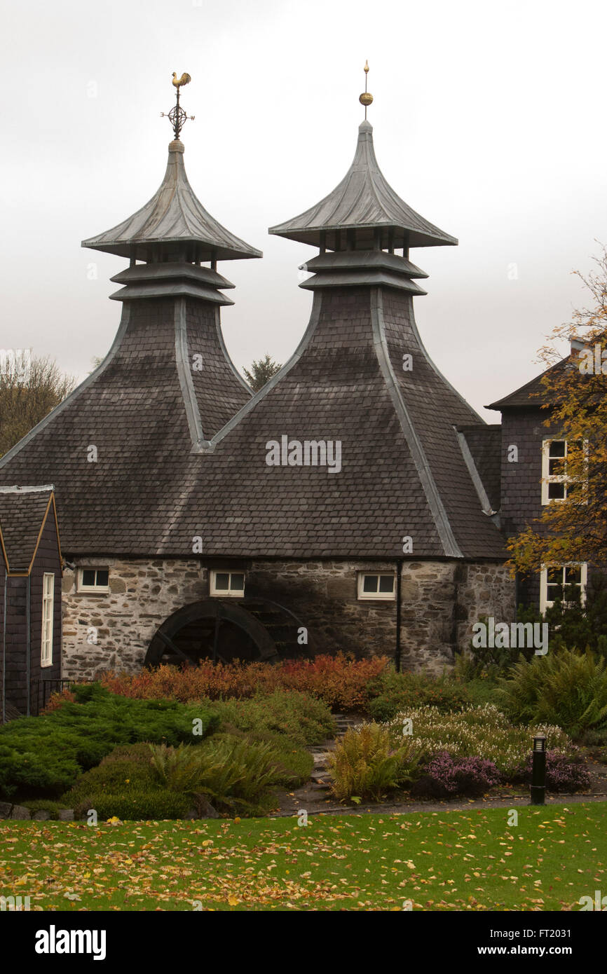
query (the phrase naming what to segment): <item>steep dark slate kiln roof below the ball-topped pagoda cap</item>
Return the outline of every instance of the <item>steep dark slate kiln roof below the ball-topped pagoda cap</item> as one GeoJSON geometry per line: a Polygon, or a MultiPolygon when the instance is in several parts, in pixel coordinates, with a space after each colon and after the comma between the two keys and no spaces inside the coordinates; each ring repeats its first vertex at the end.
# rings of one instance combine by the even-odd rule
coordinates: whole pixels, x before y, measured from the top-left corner
{"type": "Polygon", "coordinates": [[[426,356],[410,298],[378,292],[315,294],[295,360],[216,437],[209,473],[190,470],[173,537],[184,543],[206,506],[211,552],[395,558],[411,537],[417,557],[504,557],[454,429],[482,421],[426,356]],[[268,441],[285,433],[339,439],[341,472],[264,466],[268,441]]]}

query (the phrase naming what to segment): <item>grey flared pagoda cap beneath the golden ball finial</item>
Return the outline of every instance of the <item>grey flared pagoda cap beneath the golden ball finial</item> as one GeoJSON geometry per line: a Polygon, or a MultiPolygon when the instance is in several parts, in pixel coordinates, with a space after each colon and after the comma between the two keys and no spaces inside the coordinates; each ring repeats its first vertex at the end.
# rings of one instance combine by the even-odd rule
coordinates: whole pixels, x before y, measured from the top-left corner
{"type": "Polygon", "coordinates": [[[326,246],[334,250],[340,249],[335,243],[336,232],[348,229],[367,231],[357,235],[360,249],[373,247],[375,229],[382,233],[381,246],[389,245],[389,231],[393,232],[394,246],[457,244],[454,237],[424,219],[395,193],[379,168],[373,127],[366,121],[359,127],[352,166],[332,193],[305,213],[270,227],[269,232],[301,244],[321,246],[324,231],[326,246]]]}

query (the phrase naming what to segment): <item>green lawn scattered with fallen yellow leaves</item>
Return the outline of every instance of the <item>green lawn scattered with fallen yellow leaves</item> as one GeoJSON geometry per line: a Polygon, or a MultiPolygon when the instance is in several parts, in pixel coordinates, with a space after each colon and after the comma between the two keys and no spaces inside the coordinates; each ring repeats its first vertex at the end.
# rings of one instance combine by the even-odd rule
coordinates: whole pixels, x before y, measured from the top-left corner
{"type": "Polygon", "coordinates": [[[0,822],[43,910],[569,910],[607,892],[607,803],[209,822],[0,822]],[[196,906],[194,901],[200,901],[196,906]]]}

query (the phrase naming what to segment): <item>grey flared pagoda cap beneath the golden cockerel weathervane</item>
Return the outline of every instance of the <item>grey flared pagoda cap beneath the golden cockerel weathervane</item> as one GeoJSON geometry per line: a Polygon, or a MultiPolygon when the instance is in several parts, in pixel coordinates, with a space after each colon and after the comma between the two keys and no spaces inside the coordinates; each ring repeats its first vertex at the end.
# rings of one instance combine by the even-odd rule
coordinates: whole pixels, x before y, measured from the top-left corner
{"type": "Polygon", "coordinates": [[[261,250],[235,237],[207,212],[188,182],[184,151],[183,143],[174,139],[169,144],[165,178],[152,199],[118,226],[82,245],[139,260],[148,260],[158,244],[163,244],[167,254],[183,244],[195,245],[199,260],[261,257],[261,250]]]}

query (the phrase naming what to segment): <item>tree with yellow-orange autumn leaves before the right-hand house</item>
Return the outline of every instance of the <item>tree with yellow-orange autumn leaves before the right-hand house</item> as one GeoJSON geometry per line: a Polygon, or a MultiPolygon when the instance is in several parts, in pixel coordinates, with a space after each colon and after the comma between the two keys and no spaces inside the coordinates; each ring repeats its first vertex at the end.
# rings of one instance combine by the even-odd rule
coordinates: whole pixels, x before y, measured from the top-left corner
{"type": "Polygon", "coordinates": [[[586,277],[574,272],[588,289],[588,308],[554,328],[540,350],[548,366],[544,425],[567,441],[566,457],[550,460],[550,474],[562,477],[565,497],[551,501],[509,541],[512,570],[522,574],[543,564],[601,567],[607,561],[607,247],[594,263],[586,277]],[[563,339],[576,340],[565,358],[557,349],[563,339]]]}

